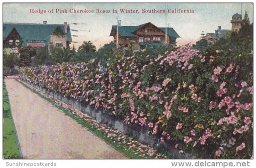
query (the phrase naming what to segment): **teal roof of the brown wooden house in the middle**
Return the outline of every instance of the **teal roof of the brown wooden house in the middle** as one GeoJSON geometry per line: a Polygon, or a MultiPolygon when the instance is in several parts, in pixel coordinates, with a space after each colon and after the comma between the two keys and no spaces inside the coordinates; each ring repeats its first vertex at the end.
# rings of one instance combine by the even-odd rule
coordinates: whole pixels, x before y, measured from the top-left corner
{"type": "MultiPolygon", "coordinates": [[[[150,22],[148,22],[150,23],[150,22]]],[[[120,34],[120,36],[129,36],[129,37],[138,37],[138,35],[134,34],[133,32],[135,32],[136,30],[138,30],[139,28],[143,27],[144,25],[148,24],[140,24],[138,26],[119,26],[118,27],[118,32],[120,34]]],[[[160,30],[162,30],[163,32],[165,32],[165,27],[158,27],[160,30]]],[[[110,35],[109,36],[114,36],[114,31],[116,30],[117,26],[113,25],[110,35]]],[[[178,35],[177,32],[175,32],[175,30],[172,27],[168,27],[167,28],[167,35],[173,38],[180,38],[180,36],[178,35]]]]}

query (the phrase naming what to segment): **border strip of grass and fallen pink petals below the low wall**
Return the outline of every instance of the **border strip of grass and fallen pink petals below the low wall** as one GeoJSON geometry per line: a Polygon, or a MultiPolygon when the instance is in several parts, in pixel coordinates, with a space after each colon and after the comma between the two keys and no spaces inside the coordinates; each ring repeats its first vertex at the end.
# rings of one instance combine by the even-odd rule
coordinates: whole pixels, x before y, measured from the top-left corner
{"type": "Polygon", "coordinates": [[[123,153],[127,158],[145,158],[145,159],[167,159],[174,158],[167,152],[159,152],[156,147],[140,143],[136,139],[122,134],[116,129],[112,129],[108,124],[100,123],[94,120],[91,116],[82,113],[76,108],[60,101],[54,99],[52,96],[44,94],[38,89],[26,82],[18,80],[23,86],[36,93],[43,99],[51,102],[55,107],[62,110],[65,115],[76,120],[79,124],[85,127],[87,130],[92,132],[94,135],[98,136],[106,143],[110,144],[115,149],[123,153]]]}

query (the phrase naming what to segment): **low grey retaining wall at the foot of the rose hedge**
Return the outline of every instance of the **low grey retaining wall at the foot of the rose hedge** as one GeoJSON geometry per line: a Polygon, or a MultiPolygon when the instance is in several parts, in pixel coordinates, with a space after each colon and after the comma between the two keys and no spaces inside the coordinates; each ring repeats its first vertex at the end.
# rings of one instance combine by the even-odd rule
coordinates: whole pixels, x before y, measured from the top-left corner
{"type": "Polygon", "coordinates": [[[46,88],[30,84],[31,86],[37,88],[39,91],[53,96],[55,99],[63,101],[64,103],[67,103],[74,108],[78,109],[79,111],[82,111],[84,114],[88,114],[92,117],[94,117],[98,122],[108,122],[108,124],[111,125],[113,129],[118,129],[124,134],[131,135],[133,137],[138,138],[140,142],[147,143],[150,145],[157,145],[159,148],[164,148],[165,150],[168,150],[172,155],[179,159],[196,159],[195,156],[192,156],[191,154],[184,153],[182,155],[179,154],[179,150],[174,148],[173,143],[159,143],[159,138],[157,138],[155,135],[148,135],[148,129],[146,127],[142,127],[140,125],[129,125],[124,123],[120,119],[116,119],[110,115],[107,115],[102,112],[101,110],[96,110],[94,107],[90,105],[86,105],[83,102],[79,102],[73,98],[67,98],[64,97],[60,93],[55,93],[51,90],[48,90],[46,88]]]}

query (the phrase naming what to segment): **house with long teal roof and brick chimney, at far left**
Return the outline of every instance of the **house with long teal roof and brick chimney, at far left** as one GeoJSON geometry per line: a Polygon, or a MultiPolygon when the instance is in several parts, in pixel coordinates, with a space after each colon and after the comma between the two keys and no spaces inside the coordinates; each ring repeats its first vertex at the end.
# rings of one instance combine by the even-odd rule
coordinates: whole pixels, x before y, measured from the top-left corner
{"type": "Polygon", "coordinates": [[[4,23],[3,24],[3,48],[13,49],[18,46],[44,47],[53,46],[68,47],[72,41],[70,28],[67,22],[64,24],[30,24],[30,23],[4,23]],[[59,29],[61,36],[53,32],[59,29]]]}

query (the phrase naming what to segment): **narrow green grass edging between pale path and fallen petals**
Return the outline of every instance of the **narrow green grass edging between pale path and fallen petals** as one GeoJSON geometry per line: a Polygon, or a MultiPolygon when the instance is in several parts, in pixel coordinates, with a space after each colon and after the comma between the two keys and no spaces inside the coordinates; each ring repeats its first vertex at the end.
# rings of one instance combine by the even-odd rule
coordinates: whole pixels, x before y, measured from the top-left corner
{"type": "MultiPolygon", "coordinates": [[[[79,117],[76,114],[71,113],[69,110],[67,110],[66,108],[64,108],[61,105],[57,104],[52,99],[45,97],[44,95],[40,94],[35,89],[30,88],[29,86],[27,86],[26,84],[22,83],[21,81],[19,81],[19,80],[17,80],[17,81],[20,82],[20,84],[22,84],[25,88],[27,88],[30,91],[32,91],[33,93],[37,94],[38,96],[40,96],[44,100],[49,101],[50,103],[52,103],[56,108],[62,110],[65,113],[65,115],[67,115],[67,116],[71,117],[72,119],[74,119],[76,122],[81,124],[84,128],[86,128],[87,130],[92,132],[94,135],[98,136],[100,139],[102,139],[103,141],[105,141],[106,143],[108,143],[109,145],[114,147],[116,150],[120,151],[126,157],[128,157],[130,159],[148,159],[148,157],[140,157],[139,155],[142,154],[140,151],[134,151],[133,149],[129,149],[129,145],[117,143],[116,141],[112,140],[111,138],[106,137],[106,135],[101,130],[99,130],[97,128],[94,128],[91,125],[91,123],[84,121],[83,118],[79,117]]],[[[166,158],[169,158],[169,159],[173,159],[174,158],[172,155],[170,155],[167,152],[166,153],[164,152],[164,155],[166,156],[166,158]]]]}

